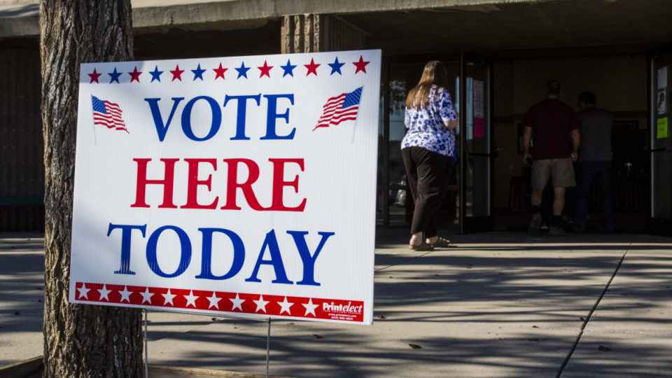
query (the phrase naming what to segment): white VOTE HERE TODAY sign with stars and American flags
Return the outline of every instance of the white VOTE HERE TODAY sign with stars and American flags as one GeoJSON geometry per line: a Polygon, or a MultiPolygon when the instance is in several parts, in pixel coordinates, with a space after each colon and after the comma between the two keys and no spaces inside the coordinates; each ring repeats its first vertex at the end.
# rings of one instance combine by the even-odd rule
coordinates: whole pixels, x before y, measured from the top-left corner
{"type": "Polygon", "coordinates": [[[371,324],[380,63],[82,64],[69,301],[371,324]]]}

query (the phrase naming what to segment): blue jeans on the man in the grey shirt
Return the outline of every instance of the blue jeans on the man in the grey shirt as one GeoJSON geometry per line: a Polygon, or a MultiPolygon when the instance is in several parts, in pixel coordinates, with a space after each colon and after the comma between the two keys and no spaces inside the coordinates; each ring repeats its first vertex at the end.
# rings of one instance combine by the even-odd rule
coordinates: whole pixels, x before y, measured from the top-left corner
{"type": "Polygon", "coordinates": [[[614,201],[611,197],[611,162],[577,162],[576,172],[576,214],[574,224],[577,228],[586,227],[588,216],[588,197],[592,181],[595,180],[597,193],[604,212],[603,227],[614,228],[614,201]]]}

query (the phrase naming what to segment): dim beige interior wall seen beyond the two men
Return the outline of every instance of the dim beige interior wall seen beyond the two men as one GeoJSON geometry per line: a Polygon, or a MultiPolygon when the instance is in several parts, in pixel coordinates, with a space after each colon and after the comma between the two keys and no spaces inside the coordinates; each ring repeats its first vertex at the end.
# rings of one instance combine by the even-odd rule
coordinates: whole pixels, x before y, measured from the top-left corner
{"type": "Polygon", "coordinates": [[[617,120],[638,120],[646,128],[647,65],[644,55],[496,61],[494,66],[495,207],[507,207],[510,170],[523,174],[517,153],[517,124],[544,98],[548,80],[559,80],[561,100],[576,107],[577,95],[589,90],[597,105],[616,112],[617,120]]]}

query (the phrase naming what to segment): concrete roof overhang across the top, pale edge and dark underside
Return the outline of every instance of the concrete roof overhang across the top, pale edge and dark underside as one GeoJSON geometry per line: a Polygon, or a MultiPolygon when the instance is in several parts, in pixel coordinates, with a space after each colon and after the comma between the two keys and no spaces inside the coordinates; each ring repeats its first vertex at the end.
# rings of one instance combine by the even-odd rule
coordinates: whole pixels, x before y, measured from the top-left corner
{"type": "MultiPolygon", "coordinates": [[[[34,8],[10,14],[32,30],[34,8]]],[[[636,54],[672,41],[672,0],[136,0],[134,44],[146,58],[278,53],[282,16],[292,13],[336,15],[385,55],[636,54]]]]}

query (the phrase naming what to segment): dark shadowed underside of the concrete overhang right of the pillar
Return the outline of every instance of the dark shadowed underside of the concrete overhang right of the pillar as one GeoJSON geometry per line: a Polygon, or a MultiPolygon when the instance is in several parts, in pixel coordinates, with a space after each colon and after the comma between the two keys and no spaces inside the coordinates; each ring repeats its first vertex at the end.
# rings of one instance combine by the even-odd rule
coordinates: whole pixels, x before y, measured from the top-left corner
{"type": "Polygon", "coordinates": [[[672,41],[670,0],[502,1],[484,6],[344,14],[389,55],[645,52],[672,41]]]}

